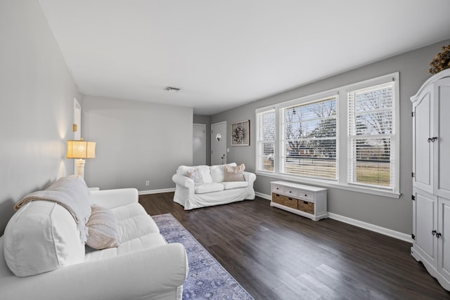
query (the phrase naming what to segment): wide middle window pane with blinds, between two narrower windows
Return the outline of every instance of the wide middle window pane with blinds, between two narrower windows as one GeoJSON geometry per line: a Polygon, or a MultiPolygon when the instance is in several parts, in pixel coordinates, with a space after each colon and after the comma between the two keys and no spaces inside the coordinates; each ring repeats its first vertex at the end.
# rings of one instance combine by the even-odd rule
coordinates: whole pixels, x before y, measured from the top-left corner
{"type": "Polygon", "coordinates": [[[336,178],[336,98],[281,109],[281,172],[336,178]]]}

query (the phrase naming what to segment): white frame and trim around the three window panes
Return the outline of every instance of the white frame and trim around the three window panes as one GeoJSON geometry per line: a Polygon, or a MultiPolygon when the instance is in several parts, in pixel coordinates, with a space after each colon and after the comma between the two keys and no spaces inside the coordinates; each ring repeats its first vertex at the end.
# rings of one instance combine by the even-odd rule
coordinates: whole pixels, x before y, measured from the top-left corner
{"type": "MultiPolygon", "coordinates": [[[[309,96],[304,96],[301,98],[295,98],[293,100],[288,100],[283,103],[277,103],[276,105],[271,105],[269,107],[260,107],[255,110],[255,117],[259,112],[264,112],[266,110],[275,110],[276,111],[276,137],[275,137],[275,149],[274,149],[274,171],[264,171],[259,170],[259,165],[257,166],[256,173],[259,176],[268,176],[271,178],[278,178],[288,181],[294,181],[298,183],[305,183],[310,185],[320,185],[328,188],[339,188],[343,190],[352,190],[360,193],[368,193],[371,195],[379,195],[385,197],[399,198],[400,197],[400,164],[399,164],[399,156],[400,156],[400,97],[399,97],[399,72],[394,72],[391,74],[386,74],[384,76],[376,77],[373,79],[368,79],[365,81],[360,81],[355,84],[349,84],[347,86],[341,86],[336,89],[331,89],[328,91],[324,91],[321,93],[316,93],[309,96]],[[394,168],[394,178],[393,178],[393,187],[390,188],[378,188],[370,185],[354,185],[348,182],[348,164],[349,164],[349,155],[348,155],[348,99],[347,93],[349,91],[355,91],[359,89],[365,89],[370,86],[376,86],[379,84],[385,84],[387,82],[394,81],[394,109],[393,109],[393,131],[392,131],[392,140],[391,147],[392,151],[392,159],[394,160],[393,168],[394,168]],[[280,170],[281,163],[281,120],[280,120],[280,111],[283,107],[288,107],[291,105],[305,104],[311,103],[323,98],[328,98],[332,96],[337,96],[337,121],[336,121],[336,167],[337,167],[337,178],[336,179],[319,179],[319,178],[307,178],[302,176],[294,176],[290,174],[283,174],[280,170]]],[[[257,118],[256,118],[257,119],[257,118]]],[[[257,129],[258,130],[258,129],[257,129]]],[[[257,131],[258,132],[258,131],[257,131]]],[[[259,149],[256,149],[256,157],[258,157],[259,149]]],[[[257,159],[257,158],[256,158],[257,159]]]]}

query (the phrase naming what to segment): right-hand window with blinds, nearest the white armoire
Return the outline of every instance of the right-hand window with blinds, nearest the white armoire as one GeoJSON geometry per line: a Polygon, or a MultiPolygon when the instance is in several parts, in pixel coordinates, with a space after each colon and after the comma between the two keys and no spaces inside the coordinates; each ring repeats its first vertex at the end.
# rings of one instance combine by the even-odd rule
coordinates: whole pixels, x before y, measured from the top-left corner
{"type": "Polygon", "coordinates": [[[394,82],[348,93],[348,181],[392,188],[394,82]]]}

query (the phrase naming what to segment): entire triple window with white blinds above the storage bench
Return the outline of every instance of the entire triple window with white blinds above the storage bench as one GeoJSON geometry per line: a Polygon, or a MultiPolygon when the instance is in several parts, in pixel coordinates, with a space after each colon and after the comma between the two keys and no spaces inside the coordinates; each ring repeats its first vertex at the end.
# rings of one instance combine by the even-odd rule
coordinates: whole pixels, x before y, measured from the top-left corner
{"type": "Polygon", "coordinates": [[[262,107],[257,174],[399,197],[399,73],[262,107]]]}

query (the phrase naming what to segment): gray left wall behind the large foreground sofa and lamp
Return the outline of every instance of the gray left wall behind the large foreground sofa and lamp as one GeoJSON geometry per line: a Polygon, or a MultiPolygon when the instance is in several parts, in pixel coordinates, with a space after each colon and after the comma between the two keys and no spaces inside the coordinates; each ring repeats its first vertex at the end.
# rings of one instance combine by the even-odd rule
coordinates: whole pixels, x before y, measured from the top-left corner
{"type": "Polygon", "coordinates": [[[0,1],[0,235],[27,193],[72,174],[77,86],[37,1],[0,1]]]}

